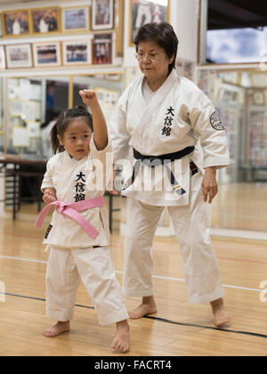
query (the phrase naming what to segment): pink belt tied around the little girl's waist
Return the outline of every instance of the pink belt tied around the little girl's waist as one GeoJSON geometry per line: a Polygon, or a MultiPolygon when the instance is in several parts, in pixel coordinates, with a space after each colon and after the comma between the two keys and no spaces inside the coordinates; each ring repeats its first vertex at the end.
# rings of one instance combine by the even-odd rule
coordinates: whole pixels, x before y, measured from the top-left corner
{"type": "Polygon", "coordinates": [[[74,221],[77,222],[82,228],[87,232],[89,236],[93,239],[98,235],[98,230],[96,230],[92,224],[89,224],[88,221],[85,220],[83,215],[80,215],[78,212],[90,209],[91,207],[103,207],[104,199],[103,198],[94,198],[94,199],[86,199],[83,201],[78,201],[76,203],[64,203],[62,201],[56,200],[53,203],[48,204],[41,213],[38,215],[36,219],[36,227],[41,227],[44,222],[44,217],[49,212],[52,206],[55,206],[55,209],[61,215],[68,215],[74,221]]]}

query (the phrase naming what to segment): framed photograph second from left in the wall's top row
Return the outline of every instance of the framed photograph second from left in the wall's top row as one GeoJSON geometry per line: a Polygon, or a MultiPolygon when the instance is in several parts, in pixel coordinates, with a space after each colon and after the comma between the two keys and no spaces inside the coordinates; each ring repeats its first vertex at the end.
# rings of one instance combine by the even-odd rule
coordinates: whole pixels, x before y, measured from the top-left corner
{"type": "Polygon", "coordinates": [[[51,34],[61,31],[60,8],[53,6],[31,10],[32,30],[34,34],[51,34]]]}

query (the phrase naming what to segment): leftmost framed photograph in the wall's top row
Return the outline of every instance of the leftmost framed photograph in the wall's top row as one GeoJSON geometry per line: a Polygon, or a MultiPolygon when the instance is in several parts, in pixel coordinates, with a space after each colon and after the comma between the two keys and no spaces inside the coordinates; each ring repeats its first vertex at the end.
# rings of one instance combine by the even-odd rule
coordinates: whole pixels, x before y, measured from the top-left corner
{"type": "Polygon", "coordinates": [[[20,37],[30,33],[29,12],[27,9],[4,11],[1,15],[3,37],[20,37]]]}

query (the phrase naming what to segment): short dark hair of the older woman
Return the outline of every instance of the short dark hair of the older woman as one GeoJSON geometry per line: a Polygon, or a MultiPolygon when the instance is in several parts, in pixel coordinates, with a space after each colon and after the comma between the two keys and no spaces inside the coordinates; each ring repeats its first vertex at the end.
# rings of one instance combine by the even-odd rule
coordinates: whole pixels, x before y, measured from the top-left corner
{"type": "Polygon", "coordinates": [[[134,38],[134,45],[136,52],[138,51],[138,45],[141,42],[147,41],[156,42],[161,48],[163,48],[171,59],[174,56],[174,61],[169,65],[169,72],[175,68],[175,61],[178,52],[178,38],[174,33],[174,28],[167,22],[151,22],[142,26],[138,30],[136,37],[134,38]]]}

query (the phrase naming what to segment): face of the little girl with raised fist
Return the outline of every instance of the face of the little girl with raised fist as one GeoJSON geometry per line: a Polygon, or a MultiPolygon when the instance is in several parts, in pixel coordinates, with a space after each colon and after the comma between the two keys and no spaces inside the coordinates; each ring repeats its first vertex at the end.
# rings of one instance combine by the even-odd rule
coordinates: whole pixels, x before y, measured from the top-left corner
{"type": "Polygon", "coordinates": [[[58,135],[60,144],[74,159],[84,159],[90,151],[92,130],[83,118],[74,119],[63,136],[58,135]]]}

